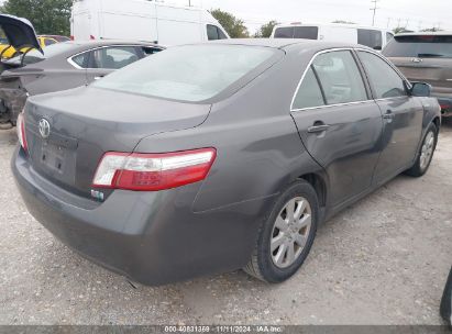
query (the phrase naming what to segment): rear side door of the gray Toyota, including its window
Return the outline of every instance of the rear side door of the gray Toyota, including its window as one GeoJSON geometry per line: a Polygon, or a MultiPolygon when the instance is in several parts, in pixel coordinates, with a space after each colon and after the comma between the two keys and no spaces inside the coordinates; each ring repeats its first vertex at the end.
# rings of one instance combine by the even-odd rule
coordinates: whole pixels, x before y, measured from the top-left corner
{"type": "Polygon", "coordinates": [[[294,97],[291,115],[307,151],[328,174],[331,205],[371,187],[382,114],[353,51],[322,52],[312,59],[294,97]]]}

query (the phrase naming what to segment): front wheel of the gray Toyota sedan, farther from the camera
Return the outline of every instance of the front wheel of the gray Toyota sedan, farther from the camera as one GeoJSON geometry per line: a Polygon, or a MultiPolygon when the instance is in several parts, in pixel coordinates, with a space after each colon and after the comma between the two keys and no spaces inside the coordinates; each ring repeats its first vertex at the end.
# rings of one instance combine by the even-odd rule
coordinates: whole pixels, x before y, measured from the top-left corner
{"type": "Polygon", "coordinates": [[[433,123],[431,123],[427,129],[426,135],[423,136],[415,165],[405,171],[405,174],[412,177],[423,176],[430,167],[434,149],[437,148],[437,143],[438,129],[433,123]]]}

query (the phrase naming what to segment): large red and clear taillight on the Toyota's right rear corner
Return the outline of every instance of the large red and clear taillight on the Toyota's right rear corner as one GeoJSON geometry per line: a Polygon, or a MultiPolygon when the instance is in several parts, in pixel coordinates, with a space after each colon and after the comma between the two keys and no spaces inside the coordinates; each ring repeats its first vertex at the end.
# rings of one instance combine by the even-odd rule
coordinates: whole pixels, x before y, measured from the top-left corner
{"type": "Polygon", "coordinates": [[[214,148],[163,154],[103,155],[92,187],[157,191],[203,180],[217,156],[214,148]]]}

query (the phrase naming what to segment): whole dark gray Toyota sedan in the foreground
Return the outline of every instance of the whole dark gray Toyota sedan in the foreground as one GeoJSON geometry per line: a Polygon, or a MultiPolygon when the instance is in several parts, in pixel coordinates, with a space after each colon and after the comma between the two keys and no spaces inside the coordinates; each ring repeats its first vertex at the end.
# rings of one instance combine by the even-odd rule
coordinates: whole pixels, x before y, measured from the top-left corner
{"type": "Polygon", "coordinates": [[[427,171],[440,127],[429,90],[357,45],[176,46],[32,97],[12,170],[45,227],[135,281],[245,268],[280,282],[321,222],[427,171]]]}

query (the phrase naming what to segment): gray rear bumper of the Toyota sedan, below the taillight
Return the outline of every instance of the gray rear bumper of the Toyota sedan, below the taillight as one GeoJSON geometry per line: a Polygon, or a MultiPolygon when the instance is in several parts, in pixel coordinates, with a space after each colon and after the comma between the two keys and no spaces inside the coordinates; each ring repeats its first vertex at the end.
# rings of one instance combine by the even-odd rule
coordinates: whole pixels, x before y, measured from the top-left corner
{"type": "Polygon", "coordinates": [[[22,149],[11,162],[32,215],[88,259],[144,285],[242,268],[273,199],[194,213],[200,185],[168,191],[114,191],[103,203],[74,199],[37,175],[22,149]],[[76,203],[76,204],[74,204],[76,203]]]}

